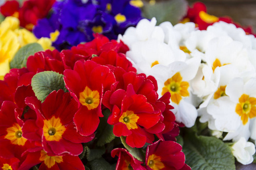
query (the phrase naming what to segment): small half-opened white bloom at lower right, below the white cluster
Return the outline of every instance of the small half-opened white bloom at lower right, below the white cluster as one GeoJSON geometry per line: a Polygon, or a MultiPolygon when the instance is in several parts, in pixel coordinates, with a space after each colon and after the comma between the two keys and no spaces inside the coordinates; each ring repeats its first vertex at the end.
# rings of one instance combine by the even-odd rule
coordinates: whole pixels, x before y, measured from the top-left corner
{"type": "Polygon", "coordinates": [[[255,145],[251,142],[246,142],[245,138],[241,138],[232,146],[232,153],[238,162],[247,165],[253,162],[255,153],[255,145]]]}

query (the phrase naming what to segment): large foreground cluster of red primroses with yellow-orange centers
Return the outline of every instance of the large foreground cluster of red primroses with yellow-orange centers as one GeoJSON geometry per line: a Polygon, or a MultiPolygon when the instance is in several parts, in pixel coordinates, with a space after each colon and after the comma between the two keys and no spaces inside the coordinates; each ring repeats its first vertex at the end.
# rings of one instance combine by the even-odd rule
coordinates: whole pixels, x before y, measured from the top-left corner
{"type": "Polygon", "coordinates": [[[100,117],[109,109],[115,136],[130,147],[153,143],[145,163],[115,148],[117,169],[191,169],[174,142],[179,125],[170,111],[170,93],[158,99],[156,80],[136,74],[127,50],[123,42],[96,35],[70,50],[38,52],[27,59],[27,68],[11,69],[0,81],[0,167],[85,169],[82,143],[97,140],[100,117]],[[69,92],[52,91],[39,101],[31,79],[43,71],[63,74],[69,92]]]}

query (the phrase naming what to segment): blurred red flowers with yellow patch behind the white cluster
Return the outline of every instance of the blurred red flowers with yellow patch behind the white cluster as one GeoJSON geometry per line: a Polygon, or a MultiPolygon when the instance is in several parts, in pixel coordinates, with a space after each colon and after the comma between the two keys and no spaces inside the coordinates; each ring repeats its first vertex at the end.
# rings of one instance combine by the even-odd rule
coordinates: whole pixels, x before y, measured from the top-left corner
{"type": "Polygon", "coordinates": [[[205,30],[209,25],[220,21],[232,23],[236,25],[237,28],[242,28],[247,34],[256,36],[251,27],[242,27],[239,23],[234,22],[229,16],[217,17],[214,15],[209,15],[207,13],[207,7],[201,2],[196,2],[192,7],[188,7],[187,15],[184,16],[183,19],[183,22],[196,23],[200,30],[205,30]]]}

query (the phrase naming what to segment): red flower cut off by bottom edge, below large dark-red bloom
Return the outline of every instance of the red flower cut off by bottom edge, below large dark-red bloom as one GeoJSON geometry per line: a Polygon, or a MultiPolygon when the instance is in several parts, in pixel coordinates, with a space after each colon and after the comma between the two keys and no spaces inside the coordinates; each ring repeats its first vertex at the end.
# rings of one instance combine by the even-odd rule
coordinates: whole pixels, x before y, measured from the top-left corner
{"type": "Polygon", "coordinates": [[[71,155],[49,155],[44,150],[28,152],[26,160],[20,165],[19,170],[27,170],[34,165],[42,163],[39,170],[44,169],[78,169],[83,170],[84,165],[82,164],[78,156],[71,155]]]}

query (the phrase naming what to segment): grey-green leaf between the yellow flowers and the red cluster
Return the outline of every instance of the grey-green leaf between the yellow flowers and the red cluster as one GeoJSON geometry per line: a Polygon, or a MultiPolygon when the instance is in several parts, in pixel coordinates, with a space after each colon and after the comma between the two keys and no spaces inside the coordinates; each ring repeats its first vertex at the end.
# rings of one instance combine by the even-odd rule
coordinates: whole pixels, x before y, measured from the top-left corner
{"type": "Polygon", "coordinates": [[[34,55],[36,52],[43,51],[44,49],[38,43],[31,43],[23,46],[16,52],[13,60],[10,62],[11,69],[17,68],[21,69],[22,67],[27,66],[27,58],[34,55]]]}

